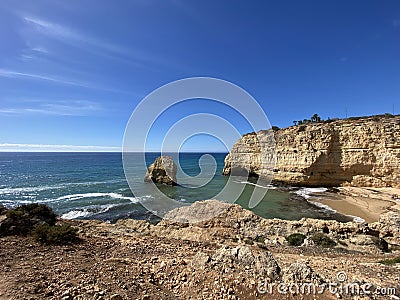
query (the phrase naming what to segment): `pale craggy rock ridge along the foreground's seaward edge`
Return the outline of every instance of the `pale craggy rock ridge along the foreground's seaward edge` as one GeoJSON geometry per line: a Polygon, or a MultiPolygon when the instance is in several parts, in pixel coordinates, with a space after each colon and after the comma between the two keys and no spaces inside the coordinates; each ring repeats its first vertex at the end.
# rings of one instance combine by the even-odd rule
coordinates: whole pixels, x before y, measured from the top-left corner
{"type": "Polygon", "coordinates": [[[287,244],[285,237],[293,233],[302,233],[307,237],[319,233],[336,241],[336,247],[361,252],[380,253],[400,245],[400,230],[396,227],[398,215],[395,214],[382,217],[384,223],[371,224],[306,218],[299,221],[263,219],[237,204],[220,205],[217,200],[195,202],[186,210],[177,211],[183,212],[181,217],[175,212],[176,219],[164,219],[157,225],[145,225],[146,221],[135,220],[120,220],[116,225],[123,231],[196,242],[232,241],[269,246],[287,244]],[[197,211],[210,211],[208,214],[215,215],[212,213],[214,207],[219,213],[216,217],[201,222],[181,222],[182,219],[190,219],[188,216],[197,211]],[[221,207],[225,208],[223,212],[220,211],[221,207]],[[190,211],[191,208],[193,211],[190,211]]]}

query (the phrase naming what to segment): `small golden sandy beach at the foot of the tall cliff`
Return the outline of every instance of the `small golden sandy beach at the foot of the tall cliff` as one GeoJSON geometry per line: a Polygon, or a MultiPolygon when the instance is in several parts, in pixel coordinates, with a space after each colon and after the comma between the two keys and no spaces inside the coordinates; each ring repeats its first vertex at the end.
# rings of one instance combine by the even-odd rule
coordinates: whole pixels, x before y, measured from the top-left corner
{"type": "Polygon", "coordinates": [[[337,193],[326,193],[318,201],[339,213],[356,216],[366,222],[376,222],[379,216],[393,209],[400,209],[400,201],[392,198],[400,195],[398,188],[339,187],[337,193]]]}

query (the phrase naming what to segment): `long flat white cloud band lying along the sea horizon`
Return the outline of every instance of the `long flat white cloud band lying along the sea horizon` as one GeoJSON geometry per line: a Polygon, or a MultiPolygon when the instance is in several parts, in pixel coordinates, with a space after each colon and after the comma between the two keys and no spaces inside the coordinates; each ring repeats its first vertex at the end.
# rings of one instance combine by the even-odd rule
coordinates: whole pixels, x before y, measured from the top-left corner
{"type": "Polygon", "coordinates": [[[0,152],[120,152],[121,147],[46,144],[0,144],[0,152]]]}

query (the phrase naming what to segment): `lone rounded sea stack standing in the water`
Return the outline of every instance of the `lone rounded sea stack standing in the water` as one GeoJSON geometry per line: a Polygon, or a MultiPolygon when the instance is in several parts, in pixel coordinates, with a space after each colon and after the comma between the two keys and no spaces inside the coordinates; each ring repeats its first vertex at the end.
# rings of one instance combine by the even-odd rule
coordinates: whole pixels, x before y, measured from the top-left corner
{"type": "Polygon", "coordinates": [[[171,156],[160,156],[147,169],[144,181],[177,185],[177,167],[171,156]]]}

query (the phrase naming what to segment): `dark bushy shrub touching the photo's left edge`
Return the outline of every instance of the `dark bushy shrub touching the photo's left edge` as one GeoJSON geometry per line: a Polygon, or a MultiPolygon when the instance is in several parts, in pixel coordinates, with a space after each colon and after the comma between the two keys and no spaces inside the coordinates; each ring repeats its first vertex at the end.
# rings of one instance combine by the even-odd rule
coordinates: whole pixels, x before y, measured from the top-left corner
{"type": "Polygon", "coordinates": [[[36,224],[54,225],[57,221],[53,210],[44,204],[21,205],[6,212],[0,225],[0,235],[27,235],[36,224]]]}

